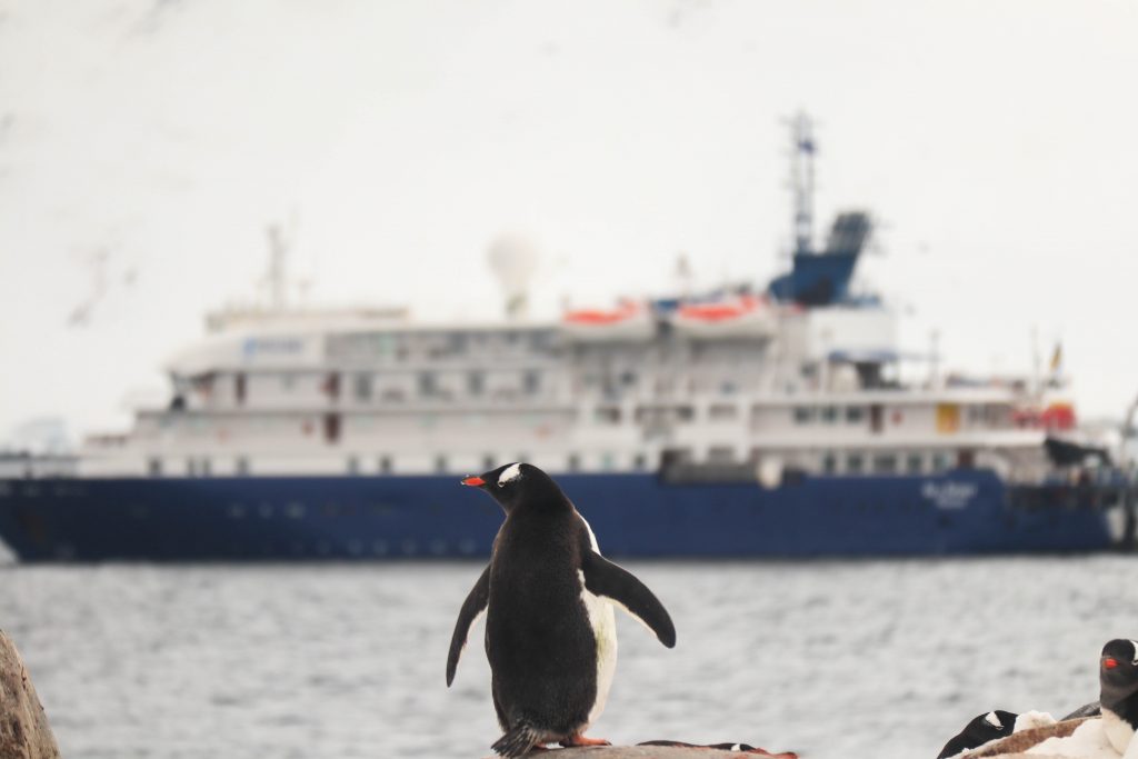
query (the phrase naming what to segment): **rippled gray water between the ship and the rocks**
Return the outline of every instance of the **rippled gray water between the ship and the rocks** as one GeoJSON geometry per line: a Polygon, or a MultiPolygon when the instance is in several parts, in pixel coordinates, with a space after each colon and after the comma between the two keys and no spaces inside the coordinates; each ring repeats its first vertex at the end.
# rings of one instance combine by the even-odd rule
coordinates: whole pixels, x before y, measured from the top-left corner
{"type": "MultiPolygon", "coordinates": [[[[628,562],[678,644],[619,619],[591,734],[932,759],[981,711],[1096,698],[1135,561],[628,562]]],[[[69,759],[472,759],[498,736],[481,625],[444,671],[480,569],[7,566],[0,627],[69,759]]]]}

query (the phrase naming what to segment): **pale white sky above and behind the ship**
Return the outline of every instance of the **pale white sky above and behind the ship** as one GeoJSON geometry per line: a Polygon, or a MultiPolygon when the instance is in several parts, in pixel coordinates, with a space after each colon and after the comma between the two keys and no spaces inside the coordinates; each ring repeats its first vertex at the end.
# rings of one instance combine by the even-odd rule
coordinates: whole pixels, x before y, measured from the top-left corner
{"type": "Polygon", "coordinates": [[[497,313],[504,230],[539,246],[541,314],[660,291],[678,251],[765,282],[800,108],[818,226],[883,223],[860,279],[904,347],[938,329],[949,366],[1028,371],[1034,328],[1082,414],[1118,415],[1135,40],[1121,0],[0,0],[0,439],[124,423],[207,310],[255,294],[273,221],[312,302],[422,319],[497,313]]]}

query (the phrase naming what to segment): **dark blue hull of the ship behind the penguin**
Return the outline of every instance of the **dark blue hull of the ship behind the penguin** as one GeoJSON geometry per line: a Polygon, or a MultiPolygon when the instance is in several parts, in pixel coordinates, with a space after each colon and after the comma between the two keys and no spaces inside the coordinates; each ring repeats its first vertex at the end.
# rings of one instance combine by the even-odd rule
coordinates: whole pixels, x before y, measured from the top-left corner
{"type": "MultiPolygon", "coordinates": [[[[1021,503],[984,471],[806,477],[769,489],[648,473],[559,482],[615,556],[1083,552],[1119,542],[1102,503],[1021,503]]],[[[487,556],[501,522],[490,498],[442,476],[0,481],[0,537],[25,561],[487,556]]]]}

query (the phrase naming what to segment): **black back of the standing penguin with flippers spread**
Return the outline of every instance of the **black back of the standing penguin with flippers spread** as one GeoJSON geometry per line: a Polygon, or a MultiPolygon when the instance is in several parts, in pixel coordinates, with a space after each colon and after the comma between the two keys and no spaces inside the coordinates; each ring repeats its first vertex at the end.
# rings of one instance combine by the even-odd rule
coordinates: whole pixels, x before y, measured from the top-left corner
{"type": "Polygon", "coordinates": [[[486,657],[504,731],[525,723],[568,735],[588,720],[596,637],[579,575],[588,544],[584,520],[559,490],[511,510],[498,531],[486,657]]]}

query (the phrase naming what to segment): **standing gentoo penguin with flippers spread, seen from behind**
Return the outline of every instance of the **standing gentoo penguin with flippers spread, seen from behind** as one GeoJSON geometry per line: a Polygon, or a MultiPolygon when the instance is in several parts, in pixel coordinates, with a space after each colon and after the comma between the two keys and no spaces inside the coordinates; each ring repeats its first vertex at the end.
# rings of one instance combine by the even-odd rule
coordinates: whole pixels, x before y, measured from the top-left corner
{"type": "Polygon", "coordinates": [[[490,691],[505,733],[494,751],[520,757],[544,743],[607,744],[584,733],[604,708],[617,663],[612,604],[669,649],[671,618],[643,583],[601,556],[588,522],[537,467],[516,462],[462,484],[492,495],[505,521],[454,625],[447,686],[485,611],[490,691]]]}

